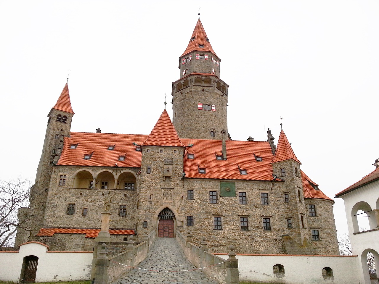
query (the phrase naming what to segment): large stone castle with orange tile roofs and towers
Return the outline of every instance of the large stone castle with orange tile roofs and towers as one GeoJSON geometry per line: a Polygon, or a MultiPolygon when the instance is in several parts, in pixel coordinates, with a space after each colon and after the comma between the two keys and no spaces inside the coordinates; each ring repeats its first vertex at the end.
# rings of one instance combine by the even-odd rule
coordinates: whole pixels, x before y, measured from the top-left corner
{"type": "Polygon", "coordinates": [[[267,141],[230,138],[220,65],[199,18],[172,83],[172,121],[164,109],[149,135],[71,132],[66,83],[15,245],[92,251],[109,194],[113,241],[178,230],[194,243],[207,237],[210,252],[339,254],[334,201],[302,172],[284,131],[277,146],[270,130],[267,141]]]}

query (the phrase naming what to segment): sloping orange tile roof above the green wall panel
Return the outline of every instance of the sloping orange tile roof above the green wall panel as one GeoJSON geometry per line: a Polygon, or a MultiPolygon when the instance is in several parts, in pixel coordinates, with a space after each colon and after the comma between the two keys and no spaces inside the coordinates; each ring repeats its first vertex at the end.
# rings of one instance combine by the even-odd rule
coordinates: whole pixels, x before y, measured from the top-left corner
{"type": "Polygon", "coordinates": [[[182,142],[184,145],[193,144],[193,147],[186,148],[184,156],[186,178],[273,180],[270,164],[273,153],[268,142],[227,140],[227,160],[216,159],[216,154],[221,153],[222,140],[182,139],[182,142]],[[194,154],[194,158],[188,159],[187,153],[194,154]],[[261,162],[255,160],[254,153],[262,157],[261,162]],[[246,175],[241,175],[238,169],[241,161],[246,175]],[[205,173],[199,173],[199,167],[204,167],[205,173]]]}

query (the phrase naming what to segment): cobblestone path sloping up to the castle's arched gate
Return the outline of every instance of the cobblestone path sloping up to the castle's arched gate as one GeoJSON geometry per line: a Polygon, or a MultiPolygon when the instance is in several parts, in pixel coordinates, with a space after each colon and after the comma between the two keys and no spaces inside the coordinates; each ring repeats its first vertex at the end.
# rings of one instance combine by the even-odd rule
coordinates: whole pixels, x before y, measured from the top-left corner
{"type": "MultiPolygon", "coordinates": [[[[138,268],[154,270],[194,269],[175,238],[157,238],[153,248],[138,268]]],[[[154,272],[134,268],[111,284],[217,284],[200,270],[188,272],[154,272]]]]}

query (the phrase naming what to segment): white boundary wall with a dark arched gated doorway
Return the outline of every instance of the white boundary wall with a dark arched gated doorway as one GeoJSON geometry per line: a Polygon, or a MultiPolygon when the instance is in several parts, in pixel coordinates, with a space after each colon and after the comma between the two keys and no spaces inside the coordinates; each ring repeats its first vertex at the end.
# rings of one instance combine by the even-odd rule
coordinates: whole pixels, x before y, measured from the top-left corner
{"type": "Polygon", "coordinates": [[[0,280],[17,282],[25,256],[38,257],[36,282],[91,279],[92,251],[48,251],[38,242],[20,245],[19,251],[0,252],[0,280]]]}

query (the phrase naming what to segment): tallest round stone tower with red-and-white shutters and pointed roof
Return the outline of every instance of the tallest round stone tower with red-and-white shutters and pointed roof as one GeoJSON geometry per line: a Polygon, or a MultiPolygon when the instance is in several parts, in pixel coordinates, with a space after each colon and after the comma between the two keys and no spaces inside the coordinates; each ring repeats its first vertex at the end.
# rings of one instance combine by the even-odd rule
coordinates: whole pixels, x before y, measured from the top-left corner
{"type": "Polygon", "coordinates": [[[179,58],[180,79],[172,83],[172,123],[180,138],[221,140],[227,131],[229,85],[220,79],[220,62],[199,16],[179,58]]]}

